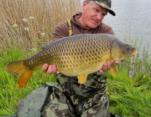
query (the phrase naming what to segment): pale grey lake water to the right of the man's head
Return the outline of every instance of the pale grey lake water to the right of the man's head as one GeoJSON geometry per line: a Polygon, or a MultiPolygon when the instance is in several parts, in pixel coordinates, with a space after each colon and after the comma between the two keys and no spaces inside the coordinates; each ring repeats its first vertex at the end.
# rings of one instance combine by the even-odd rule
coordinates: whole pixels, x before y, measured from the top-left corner
{"type": "Polygon", "coordinates": [[[151,0],[112,0],[116,16],[107,15],[104,22],[112,26],[122,40],[138,40],[151,53],[151,0]]]}

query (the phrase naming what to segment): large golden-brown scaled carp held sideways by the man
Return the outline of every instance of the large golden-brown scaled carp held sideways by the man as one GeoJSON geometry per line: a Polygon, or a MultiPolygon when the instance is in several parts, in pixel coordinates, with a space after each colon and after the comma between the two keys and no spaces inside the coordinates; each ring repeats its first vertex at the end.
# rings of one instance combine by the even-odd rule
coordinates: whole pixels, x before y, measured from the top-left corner
{"type": "Polygon", "coordinates": [[[9,72],[19,74],[24,87],[33,71],[44,63],[56,64],[60,73],[77,76],[84,84],[87,75],[98,71],[109,60],[120,61],[137,54],[137,50],[110,34],[79,34],[54,40],[34,56],[7,65],[9,72]]]}

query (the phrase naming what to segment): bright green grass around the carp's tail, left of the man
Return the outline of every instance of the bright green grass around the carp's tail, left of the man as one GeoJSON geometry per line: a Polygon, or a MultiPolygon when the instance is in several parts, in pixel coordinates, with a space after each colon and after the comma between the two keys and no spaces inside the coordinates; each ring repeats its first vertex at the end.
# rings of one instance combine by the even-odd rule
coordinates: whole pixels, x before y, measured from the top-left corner
{"type": "Polygon", "coordinates": [[[19,101],[33,89],[55,80],[53,75],[44,74],[42,70],[38,70],[33,74],[25,88],[18,89],[16,87],[17,77],[7,73],[5,65],[10,61],[24,58],[24,54],[25,52],[22,50],[10,49],[0,55],[0,116],[14,114],[19,101]]]}

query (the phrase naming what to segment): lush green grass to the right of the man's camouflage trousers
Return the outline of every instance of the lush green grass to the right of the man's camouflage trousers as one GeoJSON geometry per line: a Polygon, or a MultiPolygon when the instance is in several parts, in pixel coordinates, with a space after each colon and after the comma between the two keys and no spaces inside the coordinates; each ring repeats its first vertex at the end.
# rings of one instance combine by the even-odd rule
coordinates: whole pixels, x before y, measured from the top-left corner
{"type": "Polygon", "coordinates": [[[144,73],[128,76],[128,69],[120,66],[120,72],[109,76],[108,91],[110,111],[125,117],[151,116],[151,78],[144,73]]]}

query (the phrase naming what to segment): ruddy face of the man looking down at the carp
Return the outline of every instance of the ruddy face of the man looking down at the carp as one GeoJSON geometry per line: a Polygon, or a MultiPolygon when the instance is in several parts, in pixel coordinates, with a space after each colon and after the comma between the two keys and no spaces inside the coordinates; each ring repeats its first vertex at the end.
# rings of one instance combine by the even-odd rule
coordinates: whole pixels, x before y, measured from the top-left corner
{"type": "Polygon", "coordinates": [[[93,1],[83,3],[83,20],[87,27],[96,28],[102,23],[107,10],[93,1]]]}

